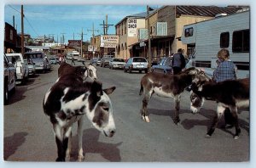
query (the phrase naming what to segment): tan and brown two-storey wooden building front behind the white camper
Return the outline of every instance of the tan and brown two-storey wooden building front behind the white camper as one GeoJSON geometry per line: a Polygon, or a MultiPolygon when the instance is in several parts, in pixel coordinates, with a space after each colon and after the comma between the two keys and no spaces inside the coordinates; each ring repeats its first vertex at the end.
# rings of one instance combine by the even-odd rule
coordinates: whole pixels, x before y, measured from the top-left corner
{"type": "MultiPolygon", "coordinates": [[[[127,31],[127,23],[121,20],[116,25],[119,37],[119,47],[116,48],[117,57],[127,58],[143,56],[148,58],[148,20],[151,42],[151,57],[153,61],[177,53],[178,48],[183,49],[186,56],[191,51],[181,42],[184,25],[211,20],[216,14],[234,14],[240,7],[216,7],[216,6],[163,6],[155,9],[149,16],[145,15],[145,26],[137,26],[137,39],[131,41],[123,32],[127,31]],[[126,23],[126,24],[125,24],[126,23]],[[147,34],[147,35],[145,35],[147,34]],[[143,35],[143,36],[142,36],[143,35]],[[125,48],[128,46],[128,48],[125,48]],[[125,54],[125,52],[127,54],[125,54]]],[[[142,24],[143,25],[143,24],[142,24]]]]}

